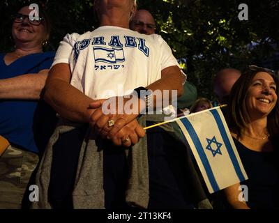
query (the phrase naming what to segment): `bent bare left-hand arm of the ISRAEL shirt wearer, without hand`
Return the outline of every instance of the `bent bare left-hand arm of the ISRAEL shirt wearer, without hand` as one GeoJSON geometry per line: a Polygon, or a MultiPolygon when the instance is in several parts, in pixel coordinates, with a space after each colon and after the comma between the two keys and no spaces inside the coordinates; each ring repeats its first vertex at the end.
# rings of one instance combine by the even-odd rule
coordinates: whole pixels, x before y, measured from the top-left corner
{"type": "Polygon", "coordinates": [[[94,100],[70,85],[70,77],[68,63],[56,64],[47,77],[43,98],[63,118],[82,123],[89,122],[93,109],[88,107],[94,100]]]}

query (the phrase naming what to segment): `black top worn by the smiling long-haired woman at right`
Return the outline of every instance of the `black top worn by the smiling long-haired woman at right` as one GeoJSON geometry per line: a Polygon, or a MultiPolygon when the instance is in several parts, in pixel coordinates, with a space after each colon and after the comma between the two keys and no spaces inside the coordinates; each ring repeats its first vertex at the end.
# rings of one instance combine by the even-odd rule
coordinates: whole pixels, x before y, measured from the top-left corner
{"type": "Polygon", "coordinates": [[[248,180],[241,185],[248,187],[250,208],[278,208],[279,156],[278,148],[273,144],[273,152],[252,151],[234,139],[248,180]]]}

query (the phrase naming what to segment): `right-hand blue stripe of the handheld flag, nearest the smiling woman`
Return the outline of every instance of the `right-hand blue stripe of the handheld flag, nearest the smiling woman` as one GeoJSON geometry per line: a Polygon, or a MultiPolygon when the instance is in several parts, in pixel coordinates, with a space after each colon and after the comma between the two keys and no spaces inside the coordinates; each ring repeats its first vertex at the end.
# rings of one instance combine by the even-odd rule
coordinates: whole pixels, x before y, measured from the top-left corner
{"type": "Polygon", "coordinates": [[[221,120],[220,115],[218,114],[216,109],[210,110],[210,112],[211,112],[211,114],[213,114],[213,117],[216,120],[216,123],[218,125],[220,134],[221,134],[221,136],[223,138],[223,141],[225,143],[225,146],[227,148],[227,153],[229,153],[229,157],[231,158],[232,164],[234,165],[234,169],[236,171],[236,174],[239,177],[239,180],[243,181],[243,180],[245,180],[245,177],[243,176],[243,173],[242,173],[241,168],[239,166],[239,162],[236,158],[236,155],[234,154],[234,150],[232,149],[232,144],[229,142],[229,139],[227,137],[227,133],[226,133],[225,127],[223,125],[223,121],[221,120]]]}

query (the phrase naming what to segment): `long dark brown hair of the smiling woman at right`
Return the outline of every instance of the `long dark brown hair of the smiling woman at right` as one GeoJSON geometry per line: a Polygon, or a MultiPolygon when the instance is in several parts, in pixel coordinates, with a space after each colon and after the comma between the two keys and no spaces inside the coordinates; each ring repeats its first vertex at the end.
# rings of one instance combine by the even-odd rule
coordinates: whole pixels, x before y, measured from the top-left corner
{"type": "MultiPolygon", "coordinates": [[[[252,79],[258,72],[267,72],[269,73],[269,75],[271,75],[271,77],[273,77],[274,82],[276,83],[276,95],[279,95],[278,78],[272,70],[259,67],[255,68],[255,66],[253,66],[253,68],[247,68],[232,87],[227,108],[227,124],[229,125],[230,130],[235,131],[237,137],[241,136],[241,131],[247,126],[248,122],[250,121],[250,116],[246,107],[246,97],[252,79]]],[[[276,106],[267,116],[267,130],[269,131],[271,138],[274,137],[276,134],[279,134],[278,99],[276,102],[276,106]]]]}

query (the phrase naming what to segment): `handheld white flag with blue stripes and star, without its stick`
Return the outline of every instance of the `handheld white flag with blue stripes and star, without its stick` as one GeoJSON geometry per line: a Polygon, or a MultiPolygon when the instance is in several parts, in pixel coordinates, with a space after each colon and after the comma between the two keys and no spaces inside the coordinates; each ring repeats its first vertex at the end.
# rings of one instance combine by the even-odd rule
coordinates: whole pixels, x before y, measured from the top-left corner
{"type": "Polygon", "coordinates": [[[210,193],[248,179],[219,107],[176,121],[210,193]]]}

